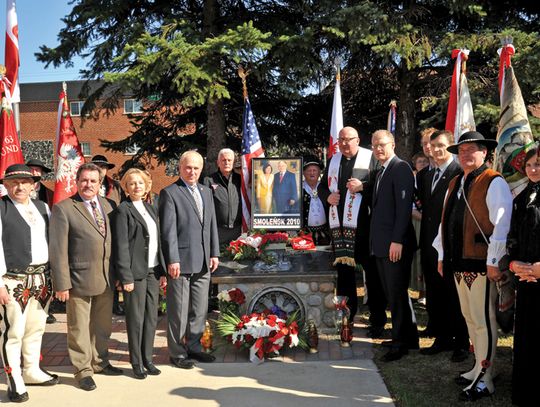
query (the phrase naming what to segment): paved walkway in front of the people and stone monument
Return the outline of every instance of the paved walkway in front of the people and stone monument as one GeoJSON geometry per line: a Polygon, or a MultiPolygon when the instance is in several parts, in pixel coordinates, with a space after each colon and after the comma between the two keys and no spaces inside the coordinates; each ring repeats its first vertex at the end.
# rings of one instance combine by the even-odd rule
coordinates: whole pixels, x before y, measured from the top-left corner
{"type": "MultiPolygon", "coordinates": [[[[29,406],[381,406],[392,399],[372,361],[372,342],[365,327],[355,321],[354,340],[342,348],[336,336],[320,335],[319,352],[309,354],[288,349],[276,359],[255,366],[246,350],[214,341],[212,364],[197,364],[192,370],[175,369],[168,364],[166,318],[161,317],[155,340],[154,362],[160,376],[146,380],[133,378],[127,351],[123,317],[114,317],[111,337],[111,362],[125,369],[125,375],[95,375],[98,389],[83,392],[73,379],[67,355],[65,314],[47,325],[43,338],[43,366],[61,377],[55,387],[30,387],[29,406]]],[[[5,377],[0,384],[0,401],[6,402],[5,377]]]]}

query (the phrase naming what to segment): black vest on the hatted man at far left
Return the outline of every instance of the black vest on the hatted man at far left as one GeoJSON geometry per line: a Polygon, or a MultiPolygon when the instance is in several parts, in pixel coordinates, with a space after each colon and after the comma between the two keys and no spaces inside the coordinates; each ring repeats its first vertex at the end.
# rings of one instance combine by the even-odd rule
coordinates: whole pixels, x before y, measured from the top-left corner
{"type": "MultiPolygon", "coordinates": [[[[47,208],[41,201],[32,202],[45,220],[45,230],[49,230],[47,208]]],[[[30,226],[21,216],[11,199],[4,196],[0,200],[2,217],[2,245],[7,269],[25,269],[32,262],[32,238],[30,226]],[[7,233],[6,233],[7,232],[7,233]]]]}

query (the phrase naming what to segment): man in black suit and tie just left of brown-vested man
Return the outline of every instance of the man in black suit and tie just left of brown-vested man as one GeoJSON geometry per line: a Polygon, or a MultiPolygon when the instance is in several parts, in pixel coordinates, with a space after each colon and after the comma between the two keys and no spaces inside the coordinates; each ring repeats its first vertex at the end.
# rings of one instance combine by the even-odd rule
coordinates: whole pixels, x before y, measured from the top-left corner
{"type": "Polygon", "coordinates": [[[426,309],[431,333],[435,337],[433,345],[420,353],[435,355],[453,350],[452,361],[460,362],[467,357],[469,349],[467,325],[459,308],[453,273],[447,271],[444,276],[438,273],[437,251],[433,248],[448,184],[461,173],[461,167],[447,150],[452,138],[452,133],[447,130],[438,130],[431,135],[434,167],[418,183],[422,202],[420,249],[426,283],[426,309]]]}

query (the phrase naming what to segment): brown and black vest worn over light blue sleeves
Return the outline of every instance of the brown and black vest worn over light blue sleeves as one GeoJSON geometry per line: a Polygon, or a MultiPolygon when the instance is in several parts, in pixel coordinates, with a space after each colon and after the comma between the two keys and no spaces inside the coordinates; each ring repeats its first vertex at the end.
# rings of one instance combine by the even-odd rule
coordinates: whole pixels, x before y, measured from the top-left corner
{"type": "MultiPolygon", "coordinates": [[[[489,220],[487,190],[491,182],[500,176],[498,172],[482,166],[471,172],[464,184],[467,201],[488,241],[494,225],[489,220]]],[[[488,244],[467,208],[463,194],[460,199],[457,197],[462,177],[463,174],[450,181],[443,208],[444,263],[452,271],[485,272],[488,244]]]]}

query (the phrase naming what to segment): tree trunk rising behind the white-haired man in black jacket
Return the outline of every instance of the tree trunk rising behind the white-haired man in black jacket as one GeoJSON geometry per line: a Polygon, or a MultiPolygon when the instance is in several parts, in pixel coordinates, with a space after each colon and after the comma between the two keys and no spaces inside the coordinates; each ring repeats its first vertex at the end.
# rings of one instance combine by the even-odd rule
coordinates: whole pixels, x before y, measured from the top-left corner
{"type": "MultiPolygon", "coordinates": [[[[203,9],[203,35],[204,38],[217,34],[216,21],[219,17],[219,4],[217,0],[205,0],[203,9]]],[[[221,66],[219,58],[215,58],[215,66],[221,66]]],[[[219,68],[218,68],[219,69],[219,68]]],[[[207,139],[205,172],[211,173],[217,169],[216,161],[219,150],[225,147],[225,113],[223,100],[209,100],[206,106],[207,113],[207,139]]]]}

